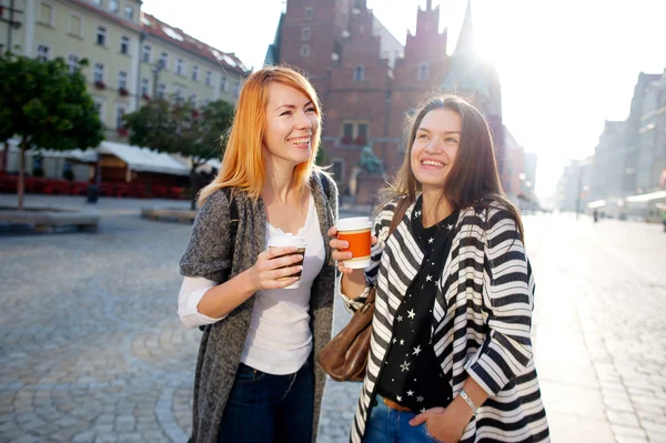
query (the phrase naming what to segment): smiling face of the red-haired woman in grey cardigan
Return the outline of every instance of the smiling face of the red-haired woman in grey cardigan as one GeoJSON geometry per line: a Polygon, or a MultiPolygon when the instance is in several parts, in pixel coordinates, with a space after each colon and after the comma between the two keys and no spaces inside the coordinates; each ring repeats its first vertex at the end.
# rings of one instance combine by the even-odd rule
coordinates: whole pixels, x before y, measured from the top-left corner
{"type": "Polygon", "coordinates": [[[310,98],[297,89],[269,84],[264,154],[273,163],[293,168],[312,158],[312,139],[319,115],[310,98]]]}

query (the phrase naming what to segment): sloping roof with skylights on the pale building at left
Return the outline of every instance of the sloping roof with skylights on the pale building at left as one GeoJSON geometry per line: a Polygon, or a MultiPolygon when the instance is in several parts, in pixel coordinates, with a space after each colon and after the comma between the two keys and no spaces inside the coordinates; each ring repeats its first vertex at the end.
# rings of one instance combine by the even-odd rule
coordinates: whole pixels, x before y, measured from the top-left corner
{"type": "Polygon", "coordinates": [[[246,75],[251,71],[233,52],[220,51],[219,49],[184,33],[182,30],[164,23],[149,13],[141,13],[141,28],[150,36],[167,41],[185,52],[194,53],[229,71],[233,71],[241,75],[246,75]]]}

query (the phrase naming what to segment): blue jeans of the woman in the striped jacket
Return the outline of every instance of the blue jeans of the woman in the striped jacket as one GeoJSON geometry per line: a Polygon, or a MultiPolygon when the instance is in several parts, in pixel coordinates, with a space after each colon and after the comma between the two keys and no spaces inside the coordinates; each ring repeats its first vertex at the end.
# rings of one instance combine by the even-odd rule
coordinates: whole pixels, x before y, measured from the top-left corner
{"type": "Polygon", "coordinates": [[[427,433],[425,423],[412,426],[413,412],[395,411],[384,404],[381,395],[375,395],[374,406],[365,424],[363,443],[442,443],[427,433]]]}

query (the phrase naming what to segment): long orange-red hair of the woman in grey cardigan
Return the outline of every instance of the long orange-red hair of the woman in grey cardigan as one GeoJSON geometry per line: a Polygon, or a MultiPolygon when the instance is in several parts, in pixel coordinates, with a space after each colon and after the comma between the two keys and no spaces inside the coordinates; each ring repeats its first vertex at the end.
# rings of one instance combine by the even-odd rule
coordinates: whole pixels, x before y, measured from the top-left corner
{"type": "Polygon", "coordinates": [[[320,124],[312,135],[310,159],[297,164],[292,175],[292,185],[297,195],[307,185],[312,172],[316,169],[314,159],[319,151],[322,133],[321,104],[314,88],[301,73],[285,66],[265,67],[252,73],[243,83],[220,173],[201,190],[200,204],[222,188],[238,188],[245,191],[252,199],[259,199],[261,195],[266,180],[262,148],[266,125],[269,84],[273,82],[302,92],[310,99],[317,115],[320,124]]]}

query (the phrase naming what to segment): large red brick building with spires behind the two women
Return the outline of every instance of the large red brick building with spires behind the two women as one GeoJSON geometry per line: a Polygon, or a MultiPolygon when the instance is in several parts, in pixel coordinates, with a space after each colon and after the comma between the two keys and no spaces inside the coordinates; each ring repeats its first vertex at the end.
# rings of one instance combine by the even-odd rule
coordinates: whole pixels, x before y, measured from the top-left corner
{"type": "Polygon", "coordinates": [[[437,90],[472,99],[490,121],[503,159],[500,82],[494,67],[474,51],[470,6],[452,54],[446,43],[432,0],[418,8],[416,31],[407,33],[404,47],[365,0],[287,0],[266,63],[287,63],[310,75],[325,113],[323,147],[343,194],[356,191],[364,145],[390,174],[400,168],[405,118],[437,90]]]}

